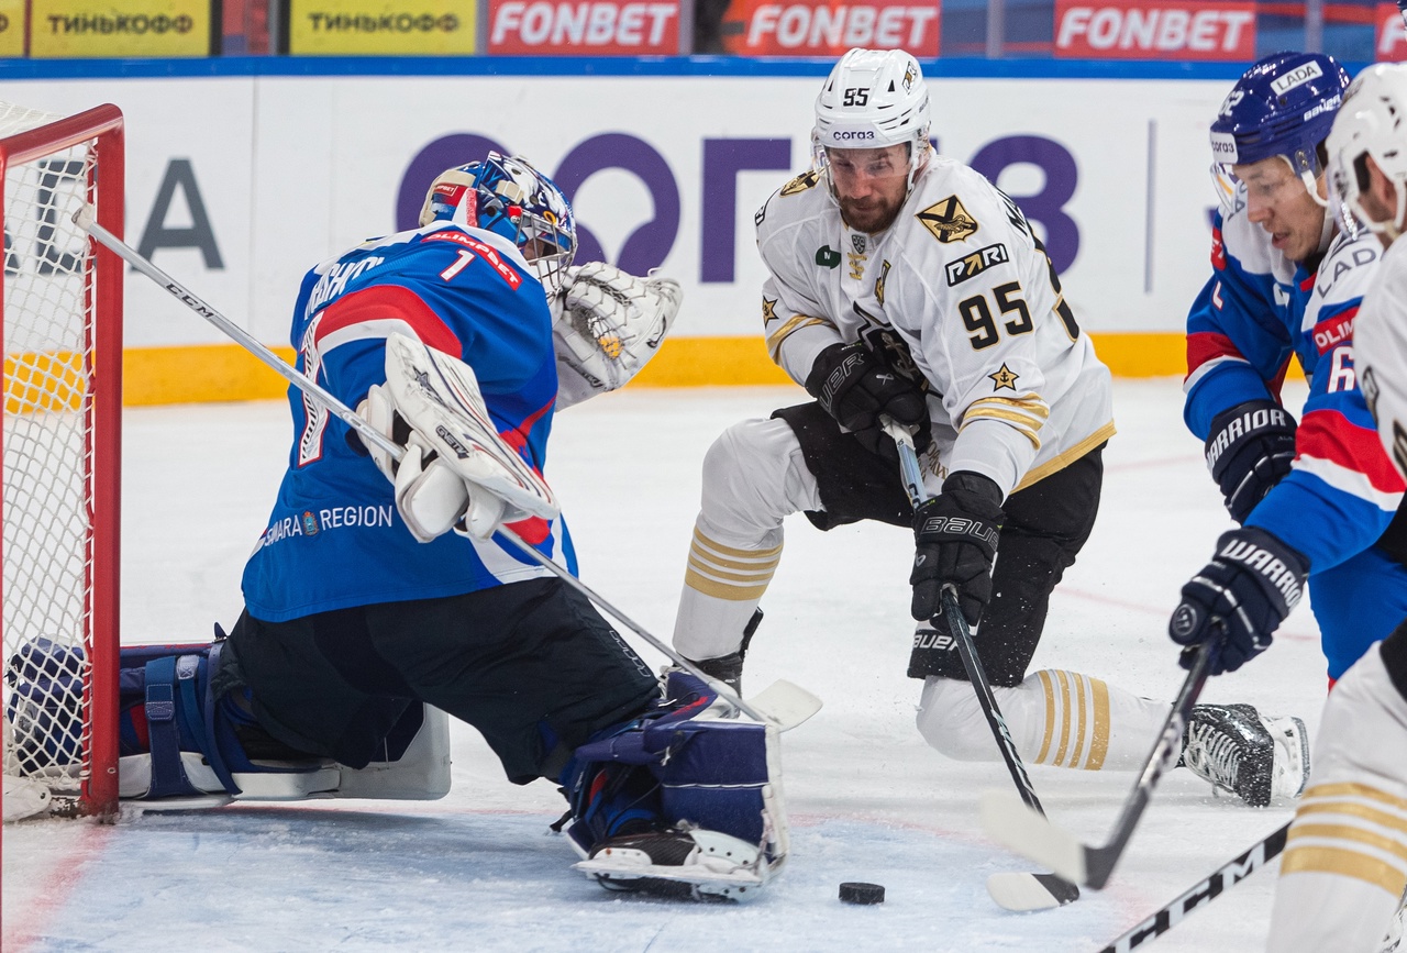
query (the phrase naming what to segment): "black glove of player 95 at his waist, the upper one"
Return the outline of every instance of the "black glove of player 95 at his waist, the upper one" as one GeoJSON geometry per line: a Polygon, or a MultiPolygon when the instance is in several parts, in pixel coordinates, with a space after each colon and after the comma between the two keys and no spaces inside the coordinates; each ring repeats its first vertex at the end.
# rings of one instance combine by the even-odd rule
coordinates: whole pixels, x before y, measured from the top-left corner
{"type": "Polygon", "coordinates": [[[929,445],[929,405],[903,374],[895,373],[862,343],[833,343],[816,358],[806,391],[870,450],[898,462],[899,452],[879,424],[881,415],[913,428],[913,445],[929,445]]]}

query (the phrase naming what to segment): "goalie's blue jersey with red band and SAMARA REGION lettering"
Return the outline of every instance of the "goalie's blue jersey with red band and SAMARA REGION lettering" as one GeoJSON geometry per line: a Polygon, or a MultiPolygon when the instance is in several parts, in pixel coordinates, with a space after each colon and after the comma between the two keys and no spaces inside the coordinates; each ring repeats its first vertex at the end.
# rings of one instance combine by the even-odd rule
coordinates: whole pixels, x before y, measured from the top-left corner
{"type": "MultiPolygon", "coordinates": [[[[552,314],[512,242],[438,222],[364,242],[304,277],[297,366],[349,407],[384,383],[393,331],[473,367],[499,435],[542,473],[557,396],[552,314]]],[[[297,387],[288,403],[288,470],[243,574],[256,618],[459,595],[547,573],[499,536],[416,542],[360,438],[297,387]]],[[[560,518],[512,528],[547,556],[560,549],[575,572],[560,518]]]]}

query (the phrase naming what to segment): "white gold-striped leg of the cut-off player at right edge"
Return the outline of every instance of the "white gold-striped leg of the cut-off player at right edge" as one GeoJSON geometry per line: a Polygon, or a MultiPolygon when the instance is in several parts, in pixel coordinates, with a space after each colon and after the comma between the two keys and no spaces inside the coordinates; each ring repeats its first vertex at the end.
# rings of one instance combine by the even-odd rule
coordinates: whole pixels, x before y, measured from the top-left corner
{"type": "Polygon", "coordinates": [[[1280,860],[1271,953],[1376,953],[1407,884],[1407,700],[1379,649],[1324,705],[1280,860]]]}

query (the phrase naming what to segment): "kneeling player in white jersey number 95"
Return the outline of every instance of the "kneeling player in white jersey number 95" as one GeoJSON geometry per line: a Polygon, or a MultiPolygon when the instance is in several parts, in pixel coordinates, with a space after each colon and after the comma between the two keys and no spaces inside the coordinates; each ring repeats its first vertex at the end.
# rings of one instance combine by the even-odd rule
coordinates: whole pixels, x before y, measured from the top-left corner
{"type": "MultiPolygon", "coordinates": [[[[815,168],[756,222],[767,346],[816,400],[736,424],[709,449],[675,648],[740,677],[784,517],[913,526],[909,674],[923,680],[924,739],[999,757],[955,646],[931,625],[953,584],[1026,760],[1140,766],[1166,704],[1082,673],[1027,676],[1050,594],[1095,524],[1109,370],[1016,203],[934,153],[913,56],[846,53],[816,100],[813,144],[815,168]],[[917,512],[884,417],[922,450],[933,498],[917,512]]],[[[1237,793],[1268,802],[1269,774],[1245,771],[1237,793]]]]}

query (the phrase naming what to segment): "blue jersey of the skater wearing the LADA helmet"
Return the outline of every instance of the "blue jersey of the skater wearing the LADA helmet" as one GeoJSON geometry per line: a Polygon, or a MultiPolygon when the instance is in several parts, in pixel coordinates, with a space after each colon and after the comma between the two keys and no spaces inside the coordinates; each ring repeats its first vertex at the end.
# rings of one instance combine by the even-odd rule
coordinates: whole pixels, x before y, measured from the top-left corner
{"type": "Polygon", "coordinates": [[[1183,418],[1207,439],[1211,419],[1248,400],[1279,401],[1294,355],[1310,381],[1294,467],[1251,512],[1328,570],[1372,546],[1403,500],[1354,373],[1354,315],[1376,272],[1377,239],[1335,235],[1311,272],[1272,248],[1244,203],[1213,222],[1211,279],[1188,315],[1183,418]]]}

